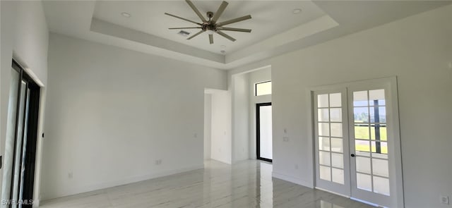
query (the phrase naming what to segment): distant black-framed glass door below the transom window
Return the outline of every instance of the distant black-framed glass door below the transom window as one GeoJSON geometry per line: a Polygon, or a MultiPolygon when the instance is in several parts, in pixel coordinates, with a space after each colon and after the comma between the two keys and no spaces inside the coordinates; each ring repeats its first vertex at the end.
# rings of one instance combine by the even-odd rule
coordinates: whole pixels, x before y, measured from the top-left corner
{"type": "Polygon", "coordinates": [[[256,153],[257,159],[273,161],[271,103],[256,104],[256,153]]]}

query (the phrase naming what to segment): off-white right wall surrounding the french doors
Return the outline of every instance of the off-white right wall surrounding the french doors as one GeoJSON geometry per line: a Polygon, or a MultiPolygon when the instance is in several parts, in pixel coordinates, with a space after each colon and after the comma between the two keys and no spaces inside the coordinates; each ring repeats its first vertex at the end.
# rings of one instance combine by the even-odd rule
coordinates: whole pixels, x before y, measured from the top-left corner
{"type": "Polygon", "coordinates": [[[448,207],[439,195],[452,195],[451,20],[446,6],[230,72],[272,66],[273,175],[314,185],[309,87],[396,75],[405,207],[448,207]]]}

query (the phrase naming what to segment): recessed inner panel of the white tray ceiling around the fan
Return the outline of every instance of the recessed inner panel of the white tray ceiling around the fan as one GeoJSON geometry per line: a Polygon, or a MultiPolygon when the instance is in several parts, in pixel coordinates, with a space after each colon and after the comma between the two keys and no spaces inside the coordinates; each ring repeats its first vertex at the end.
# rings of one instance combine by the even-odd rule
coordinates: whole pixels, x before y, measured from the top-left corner
{"type": "MultiPolygon", "coordinates": [[[[193,2],[206,18],[206,12],[212,11],[215,13],[222,1],[193,2]]],[[[191,10],[185,1],[97,1],[94,18],[216,54],[221,54],[221,46],[225,45],[226,54],[229,54],[325,15],[311,1],[230,1],[229,3],[218,23],[249,14],[252,16],[251,20],[227,25],[227,27],[252,30],[251,34],[225,31],[228,35],[237,39],[235,42],[231,42],[220,35],[214,35],[214,44],[209,44],[207,33],[187,40],[186,37],[177,35],[180,30],[168,30],[169,27],[196,27],[198,25],[165,16],[165,12],[201,23],[196,13],[191,10]],[[295,8],[302,8],[303,12],[292,13],[295,8]],[[131,17],[124,18],[124,16],[121,16],[122,12],[130,13],[131,17]]],[[[194,35],[200,29],[187,29],[185,31],[194,35]]]]}

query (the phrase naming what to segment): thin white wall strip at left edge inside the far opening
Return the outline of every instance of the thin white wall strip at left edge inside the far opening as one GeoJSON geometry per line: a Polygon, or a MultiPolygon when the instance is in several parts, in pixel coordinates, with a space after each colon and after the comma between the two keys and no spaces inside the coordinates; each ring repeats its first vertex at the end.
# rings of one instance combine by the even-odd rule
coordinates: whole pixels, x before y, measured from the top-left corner
{"type": "Polygon", "coordinates": [[[210,149],[212,147],[210,137],[212,137],[212,95],[204,94],[204,159],[210,159],[210,149]]]}

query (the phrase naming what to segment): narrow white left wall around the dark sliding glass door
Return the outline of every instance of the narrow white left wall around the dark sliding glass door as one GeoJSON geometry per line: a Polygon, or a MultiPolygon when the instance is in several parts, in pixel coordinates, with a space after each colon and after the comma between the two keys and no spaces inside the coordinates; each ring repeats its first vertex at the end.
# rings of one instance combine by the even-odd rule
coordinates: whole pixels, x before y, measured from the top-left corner
{"type": "MultiPolygon", "coordinates": [[[[39,131],[42,131],[45,86],[47,85],[47,46],[49,33],[40,1],[0,1],[1,7],[1,61],[0,61],[0,154],[4,155],[4,168],[0,178],[5,181],[11,174],[5,171],[8,164],[8,152],[5,152],[6,129],[12,128],[6,123],[8,118],[8,97],[11,85],[11,60],[14,58],[25,67],[35,82],[42,87],[39,131]]],[[[38,133],[40,135],[40,133],[38,133]]],[[[39,195],[41,140],[37,140],[37,158],[35,167],[35,202],[39,195]]],[[[3,180],[0,180],[3,181],[3,180]]],[[[1,182],[0,182],[1,183],[1,182]]],[[[6,188],[8,190],[8,188],[6,188]]],[[[2,192],[4,197],[6,192],[2,192]]],[[[38,202],[39,203],[39,202],[38,202]]]]}

